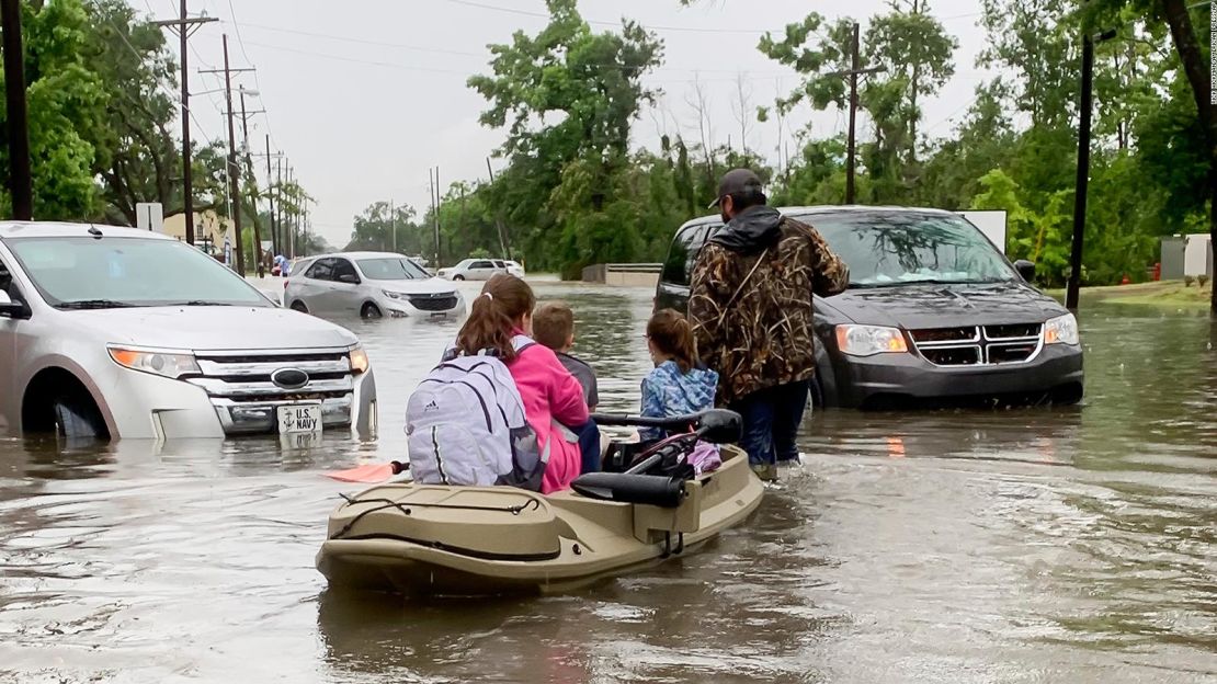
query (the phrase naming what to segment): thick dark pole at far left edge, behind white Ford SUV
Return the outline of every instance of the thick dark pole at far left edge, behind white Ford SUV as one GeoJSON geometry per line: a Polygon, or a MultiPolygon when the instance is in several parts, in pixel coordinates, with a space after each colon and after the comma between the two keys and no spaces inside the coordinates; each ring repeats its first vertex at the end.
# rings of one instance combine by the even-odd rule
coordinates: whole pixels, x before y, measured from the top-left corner
{"type": "Polygon", "coordinates": [[[21,40],[21,1],[0,0],[4,24],[4,83],[9,108],[9,192],[12,218],[34,218],[33,176],[29,172],[29,123],[26,117],[26,54],[21,40]]]}

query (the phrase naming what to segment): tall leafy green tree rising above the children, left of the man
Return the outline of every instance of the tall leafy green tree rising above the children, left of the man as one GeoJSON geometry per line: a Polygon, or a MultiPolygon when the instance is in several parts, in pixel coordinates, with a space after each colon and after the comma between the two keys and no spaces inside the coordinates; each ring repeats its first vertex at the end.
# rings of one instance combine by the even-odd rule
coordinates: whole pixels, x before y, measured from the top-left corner
{"type": "Polygon", "coordinates": [[[628,163],[630,125],[655,97],[641,78],[661,62],[662,43],[630,21],[621,33],[594,33],[574,0],[546,6],[549,26],[534,37],[516,32],[511,45],[492,45],[493,75],[469,84],[490,103],[481,122],[507,128],[500,153],[511,166],[492,197],[512,207],[514,224],[527,226],[525,242],[542,265],[570,269],[584,253],[568,239],[576,226],[601,225],[598,214],[610,207],[624,218],[613,190],[628,163]]]}

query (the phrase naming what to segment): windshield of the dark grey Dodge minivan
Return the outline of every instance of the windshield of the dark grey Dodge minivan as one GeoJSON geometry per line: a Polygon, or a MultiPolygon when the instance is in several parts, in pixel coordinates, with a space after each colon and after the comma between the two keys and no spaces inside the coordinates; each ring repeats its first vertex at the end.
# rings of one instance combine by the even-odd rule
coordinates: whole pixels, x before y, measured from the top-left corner
{"type": "Polygon", "coordinates": [[[954,214],[875,211],[800,218],[849,267],[852,287],[1017,277],[985,235],[954,214]]]}

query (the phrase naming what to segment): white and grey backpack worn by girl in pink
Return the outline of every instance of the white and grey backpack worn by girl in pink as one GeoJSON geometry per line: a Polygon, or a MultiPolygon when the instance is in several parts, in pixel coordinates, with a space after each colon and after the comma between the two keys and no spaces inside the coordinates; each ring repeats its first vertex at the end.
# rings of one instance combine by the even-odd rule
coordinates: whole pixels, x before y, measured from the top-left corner
{"type": "MultiPolygon", "coordinates": [[[[511,341],[516,354],[534,343],[511,341]]],[[[449,349],[410,396],[405,433],[415,482],[540,490],[548,449],[539,453],[520,389],[493,352],[449,349]]]]}

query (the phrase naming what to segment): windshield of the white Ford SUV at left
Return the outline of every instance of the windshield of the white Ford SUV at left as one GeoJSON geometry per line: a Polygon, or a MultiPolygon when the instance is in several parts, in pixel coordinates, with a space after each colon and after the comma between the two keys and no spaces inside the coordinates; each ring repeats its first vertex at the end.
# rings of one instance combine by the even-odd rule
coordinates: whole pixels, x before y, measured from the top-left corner
{"type": "Polygon", "coordinates": [[[273,305],[243,277],[176,240],[22,237],[7,245],[55,307],[273,305]]]}

